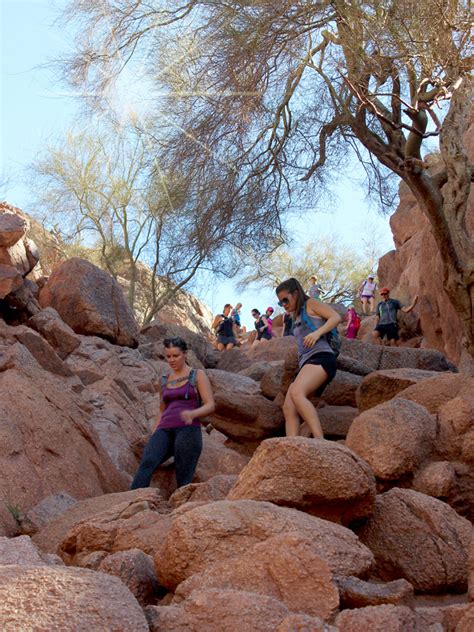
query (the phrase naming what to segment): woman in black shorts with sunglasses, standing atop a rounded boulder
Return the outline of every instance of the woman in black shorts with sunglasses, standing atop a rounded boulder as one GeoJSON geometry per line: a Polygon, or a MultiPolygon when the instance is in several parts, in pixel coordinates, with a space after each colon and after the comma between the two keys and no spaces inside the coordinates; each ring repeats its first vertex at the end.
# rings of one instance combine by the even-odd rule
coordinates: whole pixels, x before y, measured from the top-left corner
{"type": "Polygon", "coordinates": [[[296,279],[280,283],[276,294],[278,304],[293,318],[293,335],[298,344],[299,371],[283,404],[286,435],[298,436],[302,419],[313,437],[322,439],[318,413],[309,397],[313,393],[320,396],[336,375],[336,354],[328,334],[341,322],[341,317],[329,305],[307,296],[296,279]]]}

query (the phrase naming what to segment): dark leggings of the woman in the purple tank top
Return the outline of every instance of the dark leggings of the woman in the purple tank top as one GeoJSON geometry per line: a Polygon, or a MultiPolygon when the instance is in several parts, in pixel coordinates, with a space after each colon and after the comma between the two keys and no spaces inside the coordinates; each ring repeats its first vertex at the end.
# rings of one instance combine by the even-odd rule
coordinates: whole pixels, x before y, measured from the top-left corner
{"type": "Polygon", "coordinates": [[[143,451],[140,467],[130,489],[149,487],[153,472],[170,456],[174,456],[178,487],[191,483],[201,451],[201,426],[155,430],[143,451]]]}

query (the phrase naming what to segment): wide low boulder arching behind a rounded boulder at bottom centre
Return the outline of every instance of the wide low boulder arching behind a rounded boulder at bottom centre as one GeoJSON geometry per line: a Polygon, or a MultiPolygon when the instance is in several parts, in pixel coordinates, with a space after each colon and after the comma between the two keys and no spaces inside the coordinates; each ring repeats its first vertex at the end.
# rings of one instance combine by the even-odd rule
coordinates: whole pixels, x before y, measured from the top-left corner
{"type": "Polygon", "coordinates": [[[222,500],[184,513],[178,510],[172,516],[171,528],[155,555],[157,577],[175,590],[210,564],[238,557],[282,533],[306,537],[333,572],[363,576],[371,567],[370,551],[345,527],[271,503],[222,500]]]}

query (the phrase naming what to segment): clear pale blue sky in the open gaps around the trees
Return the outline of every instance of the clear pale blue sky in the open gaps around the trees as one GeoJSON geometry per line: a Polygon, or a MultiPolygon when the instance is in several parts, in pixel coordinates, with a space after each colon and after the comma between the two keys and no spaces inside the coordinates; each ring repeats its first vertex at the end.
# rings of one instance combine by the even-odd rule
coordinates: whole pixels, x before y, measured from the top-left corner
{"type": "MultiPolygon", "coordinates": [[[[31,212],[34,192],[25,168],[48,142],[73,127],[79,104],[61,86],[47,63],[69,51],[68,35],[54,25],[58,9],[66,0],[0,0],[0,177],[7,176],[0,197],[31,212]]],[[[363,192],[341,174],[333,208],[292,222],[296,243],[318,235],[338,235],[343,244],[359,248],[376,235],[381,252],[393,248],[388,218],[368,207],[363,192]]],[[[224,303],[244,304],[243,322],[253,325],[250,310],[275,305],[271,290],[247,288],[237,293],[235,282],[201,283],[199,298],[213,312],[224,303]]]]}

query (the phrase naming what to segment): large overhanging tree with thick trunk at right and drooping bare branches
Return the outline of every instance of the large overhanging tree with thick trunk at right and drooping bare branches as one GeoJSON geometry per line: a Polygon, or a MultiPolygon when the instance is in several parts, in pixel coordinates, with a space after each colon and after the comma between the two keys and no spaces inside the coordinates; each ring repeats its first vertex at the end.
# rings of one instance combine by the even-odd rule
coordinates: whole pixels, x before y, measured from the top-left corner
{"type": "Polygon", "coordinates": [[[80,26],[68,80],[97,103],[139,60],[169,163],[199,174],[223,160],[239,174],[232,196],[259,179],[278,212],[314,205],[351,152],[382,205],[389,176],[405,181],[474,355],[469,0],[72,0],[67,17],[80,26]]]}

